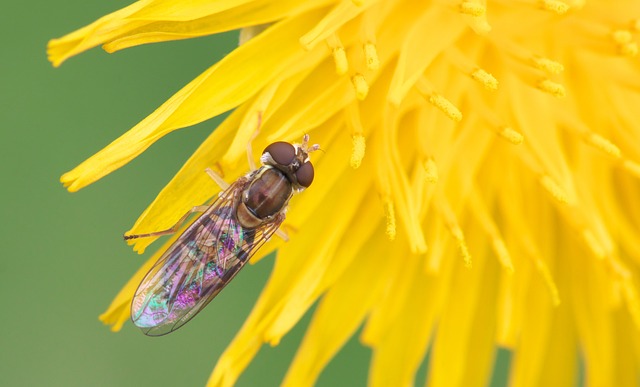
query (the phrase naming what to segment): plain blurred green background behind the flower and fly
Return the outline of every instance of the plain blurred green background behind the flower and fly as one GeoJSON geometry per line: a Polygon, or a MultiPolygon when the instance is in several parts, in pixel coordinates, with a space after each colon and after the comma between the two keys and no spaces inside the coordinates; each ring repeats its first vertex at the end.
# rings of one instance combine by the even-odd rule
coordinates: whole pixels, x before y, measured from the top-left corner
{"type": "MultiPolygon", "coordinates": [[[[111,333],[98,321],[154,250],[137,255],[122,233],[220,120],[163,138],[78,193],[63,189],[59,177],[237,41],[233,32],[113,55],[93,49],[58,69],[47,62],[49,39],[126,5],[53,0],[3,7],[0,386],[203,386],[273,264],[268,257],[245,269],[198,318],[165,337],[146,337],[130,323],[111,333]]],[[[278,347],[263,347],[239,385],[278,385],[308,320],[309,314],[278,347]]],[[[369,357],[351,340],[319,385],[365,385],[369,357]]],[[[503,367],[494,375],[495,386],[505,384],[509,356],[500,351],[498,357],[503,367]]],[[[418,384],[425,374],[423,365],[418,384]]]]}

